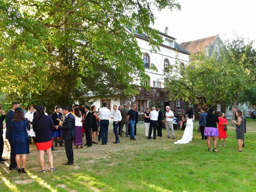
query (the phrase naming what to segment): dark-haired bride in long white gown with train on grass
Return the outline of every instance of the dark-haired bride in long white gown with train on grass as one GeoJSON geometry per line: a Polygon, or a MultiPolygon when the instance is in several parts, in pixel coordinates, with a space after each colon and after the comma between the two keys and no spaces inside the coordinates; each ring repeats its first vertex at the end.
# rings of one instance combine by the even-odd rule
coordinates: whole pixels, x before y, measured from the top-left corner
{"type": "Polygon", "coordinates": [[[174,144],[185,144],[185,143],[188,143],[190,141],[192,141],[192,138],[193,138],[193,121],[195,120],[195,116],[193,114],[193,110],[190,109],[188,110],[187,112],[187,117],[186,117],[186,120],[187,120],[187,124],[186,124],[186,128],[184,130],[184,133],[183,133],[183,136],[181,138],[181,140],[178,140],[176,142],[174,142],[174,144]]]}

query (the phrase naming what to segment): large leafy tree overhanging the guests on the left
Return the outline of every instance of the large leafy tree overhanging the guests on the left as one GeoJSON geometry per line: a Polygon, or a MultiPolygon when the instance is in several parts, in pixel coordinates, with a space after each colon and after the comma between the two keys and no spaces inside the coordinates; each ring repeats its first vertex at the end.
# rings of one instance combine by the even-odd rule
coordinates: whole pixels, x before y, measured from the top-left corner
{"type": "Polygon", "coordinates": [[[180,9],[175,0],[6,0],[0,2],[0,86],[13,98],[70,103],[80,96],[133,94],[146,86],[134,31],[152,50],[162,43],[153,9],[180,9]]]}

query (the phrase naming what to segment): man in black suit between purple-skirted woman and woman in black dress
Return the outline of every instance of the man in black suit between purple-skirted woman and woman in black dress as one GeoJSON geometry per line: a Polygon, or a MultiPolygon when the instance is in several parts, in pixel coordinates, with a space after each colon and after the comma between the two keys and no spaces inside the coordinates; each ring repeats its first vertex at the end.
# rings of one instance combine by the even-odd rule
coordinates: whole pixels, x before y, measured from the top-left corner
{"type": "Polygon", "coordinates": [[[90,112],[90,107],[88,105],[85,106],[85,118],[84,118],[84,130],[86,136],[86,144],[87,147],[92,146],[92,113],[90,112]]]}

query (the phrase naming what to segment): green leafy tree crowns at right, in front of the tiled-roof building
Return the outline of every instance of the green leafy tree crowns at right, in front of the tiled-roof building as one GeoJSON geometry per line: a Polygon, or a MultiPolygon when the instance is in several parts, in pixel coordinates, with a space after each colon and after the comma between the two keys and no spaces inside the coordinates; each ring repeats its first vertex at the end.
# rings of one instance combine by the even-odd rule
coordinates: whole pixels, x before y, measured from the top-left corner
{"type": "Polygon", "coordinates": [[[256,82],[256,51],[252,42],[237,37],[211,57],[204,51],[191,54],[186,68],[176,61],[175,74],[166,81],[170,98],[206,107],[230,104],[232,108],[249,101],[244,94],[253,91],[256,82]],[[182,75],[177,75],[179,72],[182,75]]]}

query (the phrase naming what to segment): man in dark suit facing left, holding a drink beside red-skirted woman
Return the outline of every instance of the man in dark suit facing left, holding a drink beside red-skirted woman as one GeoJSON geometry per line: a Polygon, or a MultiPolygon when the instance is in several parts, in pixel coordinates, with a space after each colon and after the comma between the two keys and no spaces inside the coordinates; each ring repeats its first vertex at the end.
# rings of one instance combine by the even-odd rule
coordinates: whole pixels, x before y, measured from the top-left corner
{"type": "Polygon", "coordinates": [[[56,125],[55,128],[62,130],[62,139],[64,140],[64,146],[68,158],[68,162],[63,165],[72,165],[74,163],[72,142],[73,139],[76,138],[75,117],[70,113],[70,106],[64,106],[62,109],[63,115],[66,115],[66,118],[62,126],[56,125]]]}

